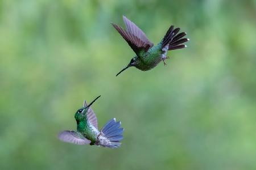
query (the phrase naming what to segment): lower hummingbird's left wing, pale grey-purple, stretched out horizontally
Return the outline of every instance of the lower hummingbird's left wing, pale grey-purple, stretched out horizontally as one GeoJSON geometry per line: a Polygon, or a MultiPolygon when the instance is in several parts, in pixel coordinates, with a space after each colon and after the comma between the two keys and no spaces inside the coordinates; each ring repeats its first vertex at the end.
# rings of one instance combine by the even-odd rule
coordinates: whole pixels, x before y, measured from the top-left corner
{"type": "Polygon", "coordinates": [[[90,143],[90,140],[86,139],[81,133],[72,130],[61,131],[58,137],[60,141],[73,143],[76,145],[85,145],[90,143]]]}

